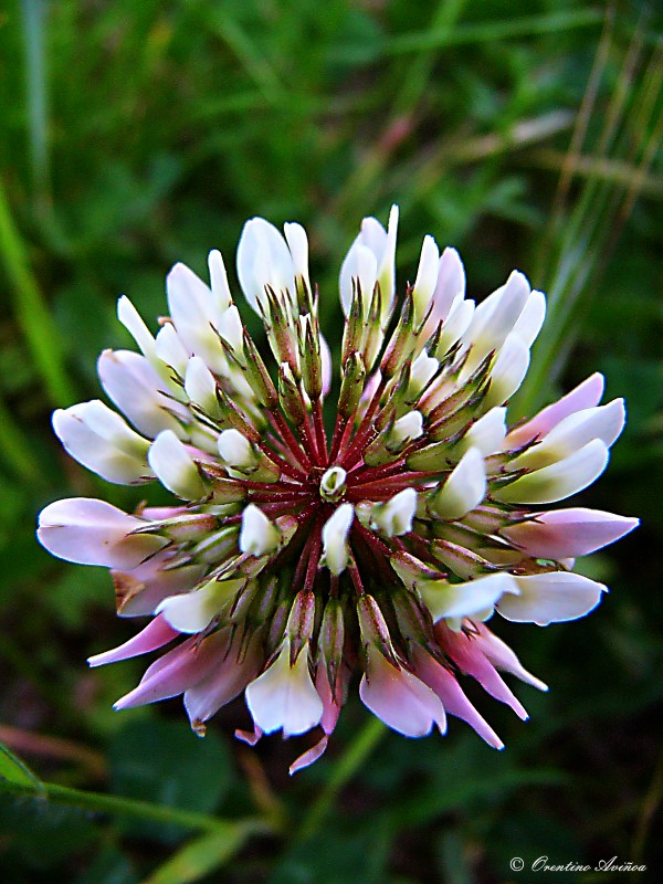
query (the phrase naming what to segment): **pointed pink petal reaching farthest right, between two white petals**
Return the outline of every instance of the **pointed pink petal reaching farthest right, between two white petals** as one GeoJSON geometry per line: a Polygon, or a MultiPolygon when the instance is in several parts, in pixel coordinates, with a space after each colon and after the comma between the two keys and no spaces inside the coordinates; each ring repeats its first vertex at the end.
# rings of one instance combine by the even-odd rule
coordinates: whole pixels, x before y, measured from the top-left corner
{"type": "Polygon", "coordinates": [[[571,507],[539,513],[535,519],[504,528],[502,534],[529,556],[564,559],[594,552],[639,524],[636,518],[571,507]]]}

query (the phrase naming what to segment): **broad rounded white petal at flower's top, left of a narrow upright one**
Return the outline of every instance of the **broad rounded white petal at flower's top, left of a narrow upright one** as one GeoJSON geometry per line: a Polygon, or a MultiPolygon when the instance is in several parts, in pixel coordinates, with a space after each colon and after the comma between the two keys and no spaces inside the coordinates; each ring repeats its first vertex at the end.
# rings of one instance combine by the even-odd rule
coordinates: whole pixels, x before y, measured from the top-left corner
{"type": "Polygon", "coordinates": [[[265,285],[275,292],[295,293],[293,257],[281,233],[264,218],[246,221],[238,245],[238,276],[249,304],[260,313],[265,285]]]}

